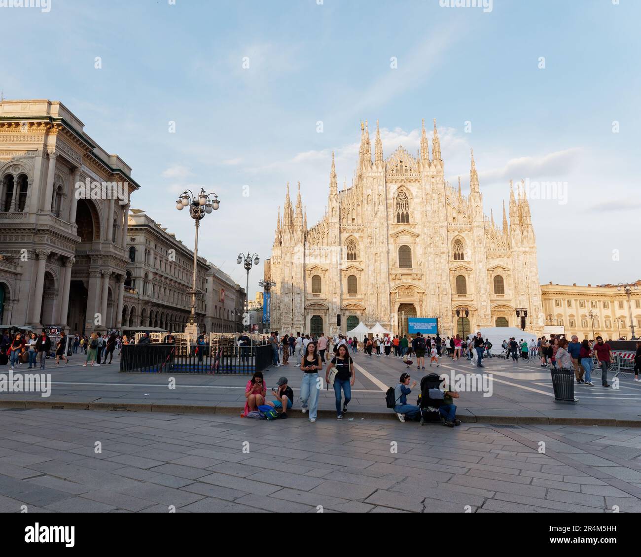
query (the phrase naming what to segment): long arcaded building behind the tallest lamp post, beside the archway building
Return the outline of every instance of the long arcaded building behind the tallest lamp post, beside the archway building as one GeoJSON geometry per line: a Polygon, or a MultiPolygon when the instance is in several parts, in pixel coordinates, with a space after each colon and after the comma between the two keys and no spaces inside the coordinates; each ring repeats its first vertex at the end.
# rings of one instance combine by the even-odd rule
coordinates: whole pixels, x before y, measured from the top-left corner
{"type": "MultiPolygon", "coordinates": [[[[124,279],[123,327],[182,332],[191,313],[194,252],[139,209],[129,212],[128,264],[124,279]]],[[[196,288],[206,291],[210,264],[198,258],[196,288]]],[[[196,317],[205,328],[206,302],[196,297],[196,317]]]]}

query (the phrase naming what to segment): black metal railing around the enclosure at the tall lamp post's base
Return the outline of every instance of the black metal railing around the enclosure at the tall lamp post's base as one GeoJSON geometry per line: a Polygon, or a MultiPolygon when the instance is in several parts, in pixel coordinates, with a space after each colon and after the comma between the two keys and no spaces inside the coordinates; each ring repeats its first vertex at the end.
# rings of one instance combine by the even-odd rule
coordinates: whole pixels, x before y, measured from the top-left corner
{"type": "Polygon", "coordinates": [[[247,347],[191,345],[187,353],[176,354],[173,344],[127,344],[122,346],[123,372],[253,374],[272,363],[271,346],[247,347]]]}

